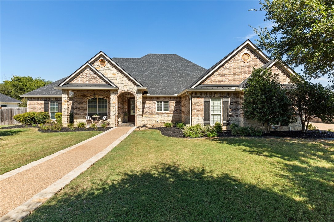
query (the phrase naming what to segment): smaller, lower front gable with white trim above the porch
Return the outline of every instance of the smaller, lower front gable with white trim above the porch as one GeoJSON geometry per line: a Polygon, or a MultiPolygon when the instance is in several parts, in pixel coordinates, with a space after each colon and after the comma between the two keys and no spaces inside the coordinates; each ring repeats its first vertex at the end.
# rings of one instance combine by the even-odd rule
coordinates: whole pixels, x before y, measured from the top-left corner
{"type": "Polygon", "coordinates": [[[76,79],[80,79],[80,76],[87,70],[90,70],[92,73],[95,74],[94,77],[99,76],[103,82],[101,83],[107,83],[110,84],[113,87],[117,87],[114,83],[112,83],[107,77],[105,77],[101,72],[99,72],[95,67],[93,67],[90,63],[85,63],[83,66],[81,66],[79,69],[77,69],[75,72],[73,72],[70,76],[68,76],[64,81],[62,81],[58,86],[63,86],[64,84],[68,83],[86,83],[86,82],[77,82],[76,79]]]}

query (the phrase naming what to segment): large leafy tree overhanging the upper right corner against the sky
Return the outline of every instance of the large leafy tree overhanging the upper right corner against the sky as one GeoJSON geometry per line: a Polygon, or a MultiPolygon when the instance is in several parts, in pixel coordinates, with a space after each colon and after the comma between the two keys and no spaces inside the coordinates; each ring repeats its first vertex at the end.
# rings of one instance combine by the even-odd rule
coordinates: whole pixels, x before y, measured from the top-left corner
{"type": "MultiPolygon", "coordinates": [[[[334,81],[334,1],[260,0],[271,30],[254,28],[259,48],[293,68],[303,67],[310,79],[334,81]]],[[[255,11],[258,9],[255,9],[255,11]]]]}

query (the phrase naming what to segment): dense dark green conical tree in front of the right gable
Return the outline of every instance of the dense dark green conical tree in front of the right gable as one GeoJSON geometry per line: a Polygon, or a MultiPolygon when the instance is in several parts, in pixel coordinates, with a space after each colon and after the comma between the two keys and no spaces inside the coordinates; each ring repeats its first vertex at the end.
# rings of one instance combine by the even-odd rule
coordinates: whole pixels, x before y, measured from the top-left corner
{"type": "Polygon", "coordinates": [[[278,74],[262,67],[255,69],[244,90],[243,114],[246,118],[264,124],[265,133],[273,124],[296,121],[294,109],[286,90],[281,88],[278,74]]]}

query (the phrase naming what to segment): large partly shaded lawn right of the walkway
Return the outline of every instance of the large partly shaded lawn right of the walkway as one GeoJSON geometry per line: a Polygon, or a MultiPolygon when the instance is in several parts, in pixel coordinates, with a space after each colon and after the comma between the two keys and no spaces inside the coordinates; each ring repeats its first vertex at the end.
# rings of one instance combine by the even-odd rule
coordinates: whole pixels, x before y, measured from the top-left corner
{"type": "Polygon", "coordinates": [[[333,221],[334,141],[135,131],[26,221],[333,221]]]}

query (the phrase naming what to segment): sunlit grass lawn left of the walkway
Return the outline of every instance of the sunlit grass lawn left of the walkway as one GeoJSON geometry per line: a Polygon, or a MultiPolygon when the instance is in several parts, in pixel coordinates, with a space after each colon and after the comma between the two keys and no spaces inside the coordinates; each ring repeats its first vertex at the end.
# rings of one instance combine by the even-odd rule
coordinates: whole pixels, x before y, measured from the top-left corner
{"type": "Polygon", "coordinates": [[[37,130],[37,128],[0,130],[0,174],[101,133],[101,131],[41,133],[37,130]]]}

